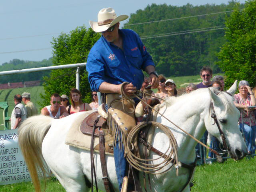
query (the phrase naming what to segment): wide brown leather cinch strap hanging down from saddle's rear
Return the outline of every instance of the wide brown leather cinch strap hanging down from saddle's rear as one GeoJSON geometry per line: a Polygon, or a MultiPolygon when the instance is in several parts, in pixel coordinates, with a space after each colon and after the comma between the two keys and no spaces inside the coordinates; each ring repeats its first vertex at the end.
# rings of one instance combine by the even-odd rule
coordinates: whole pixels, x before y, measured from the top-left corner
{"type": "Polygon", "coordinates": [[[105,140],[104,140],[104,133],[101,130],[99,133],[100,136],[100,164],[101,164],[101,170],[102,170],[102,180],[104,183],[104,187],[106,192],[114,192],[113,187],[108,179],[108,172],[107,172],[107,166],[106,166],[106,160],[105,160],[105,140]]]}

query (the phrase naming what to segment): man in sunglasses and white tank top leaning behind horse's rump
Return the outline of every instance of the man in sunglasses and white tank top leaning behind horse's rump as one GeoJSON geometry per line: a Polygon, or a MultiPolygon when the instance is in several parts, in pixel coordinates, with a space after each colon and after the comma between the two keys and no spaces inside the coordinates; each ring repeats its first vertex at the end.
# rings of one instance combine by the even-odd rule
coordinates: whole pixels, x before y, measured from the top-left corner
{"type": "Polygon", "coordinates": [[[60,95],[58,93],[52,94],[50,103],[51,105],[42,108],[41,115],[50,116],[54,119],[60,119],[69,115],[66,108],[60,105],[60,95]]]}

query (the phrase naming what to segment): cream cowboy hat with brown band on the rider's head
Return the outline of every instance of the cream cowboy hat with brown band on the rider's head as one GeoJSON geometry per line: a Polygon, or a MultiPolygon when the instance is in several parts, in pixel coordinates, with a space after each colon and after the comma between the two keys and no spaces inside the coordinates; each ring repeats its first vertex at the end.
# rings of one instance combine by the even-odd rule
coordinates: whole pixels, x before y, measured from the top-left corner
{"type": "Polygon", "coordinates": [[[95,32],[103,32],[114,24],[126,20],[128,15],[116,16],[116,12],[113,8],[103,8],[98,13],[98,22],[89,21],[92,30],[95,32]]]}

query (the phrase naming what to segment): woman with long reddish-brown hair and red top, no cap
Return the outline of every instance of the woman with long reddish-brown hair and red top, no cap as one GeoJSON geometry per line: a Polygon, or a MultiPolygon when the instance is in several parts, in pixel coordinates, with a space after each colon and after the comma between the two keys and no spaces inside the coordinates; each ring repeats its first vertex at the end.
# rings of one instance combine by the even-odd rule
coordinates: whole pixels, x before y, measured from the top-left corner
{"type": "MultiPolygon", "coordinates": [[[[81,99],[81,93],[78,89],[72,88],[70,90],[71,108],[70,114],[92,110],[88,103],[83,103],[81,99]]],[[[68,107],[67,107],[68,110],[68,107]]]]}

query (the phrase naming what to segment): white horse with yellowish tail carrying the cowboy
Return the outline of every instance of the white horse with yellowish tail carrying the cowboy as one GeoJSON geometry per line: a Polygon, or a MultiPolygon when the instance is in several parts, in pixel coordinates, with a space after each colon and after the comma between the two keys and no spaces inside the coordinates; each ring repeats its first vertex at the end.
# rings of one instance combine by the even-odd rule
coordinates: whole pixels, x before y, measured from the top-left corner
{"type": "MultiPolygon", "coordinates": [[[[236,83],[228,92],[234,94],[235,90],[236,83]]],[[[218,128],[210,116],[212,113],[211,102],[213,103],[220,128],[226,137],[230,155],[235,160],[242,159],[247,154],[247,147],[237,126],[240,113],[233,104],[232,96],[228,93],[204,88],[177,98],[167,98],[160,106],[160,113],[170,118],[175,124],[197,139],[200,139],[203,133],[208,130],[210,134],[220,140],[218,128]]],[[[33,116],[22,123],[19,129],[19,144],[30,168],[30,174],[37,192],[40,191],[40,184],[36,173],[36,164],[42,168],[43,159],[66,191],[84,192],[89,190],[86,186],[85,178],[91,180],[90,152],[66,145],[64,140],[73,121],[90,113],[91,111],[79,112],[58,120],[47,116],[33,116]]],[[[157,117],[157,122],[168,126],[174,134],[178,144],[178,160],[186,164],[193,163],[195,161],[196,141],[160,115],[157,117]]],[[[154,133],[152,146],[161,152],[165,152],[168,147],[168,138],[159,129],[156,129],[154,133]]],[[[156,154],[151,152],[148,158],[157,157],[156,154]]],[[[94,160],[98,188],[105,191],[99,154],[95,154],[94,160]]],[[[158,161],[162,160],[160,158],[158,161]]],[[[106,155],[106,164],[110,181],[114,190],[118,191],[114,157],[106,155]]],[[[168,166],[171,166],[171,164],[168,164],[166,169],[168,166]]],[[[180,168],[179,174],[176,176],[174,166],[163,174],[151,175],[152,191],[177,192],[181,191],[184,185],[187,184],[183,191],[188,192],[190,191],[188,185],[189,174],[190,170],[180,168]]],[[[143,186],[142,176],[142,173],[140,173],[139,180],[143,186]]],[[[149,188],[148,183],[147,186],[149,188]]]]}

